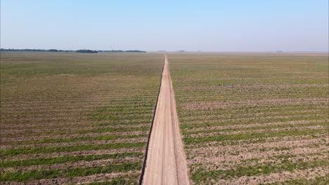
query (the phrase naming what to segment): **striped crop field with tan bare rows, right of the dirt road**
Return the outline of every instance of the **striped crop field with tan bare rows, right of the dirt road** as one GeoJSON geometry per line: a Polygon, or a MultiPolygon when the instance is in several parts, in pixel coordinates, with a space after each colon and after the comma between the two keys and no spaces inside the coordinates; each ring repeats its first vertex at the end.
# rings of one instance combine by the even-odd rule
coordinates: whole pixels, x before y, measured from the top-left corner
{"type": "Polygon", "coordinates": [[[328,184],[328,54],[168,59],[193,184],[328,184]]]}

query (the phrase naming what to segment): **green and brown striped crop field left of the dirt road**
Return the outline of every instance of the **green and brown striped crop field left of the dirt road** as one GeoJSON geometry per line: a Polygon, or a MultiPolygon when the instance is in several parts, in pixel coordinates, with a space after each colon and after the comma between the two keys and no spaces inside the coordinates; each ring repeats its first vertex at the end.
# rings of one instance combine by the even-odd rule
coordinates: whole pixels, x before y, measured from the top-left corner
{"type": "Polygon", "coordinates": [[[0,184],[138,184],[159,53],[1,52],[0,184]]]}

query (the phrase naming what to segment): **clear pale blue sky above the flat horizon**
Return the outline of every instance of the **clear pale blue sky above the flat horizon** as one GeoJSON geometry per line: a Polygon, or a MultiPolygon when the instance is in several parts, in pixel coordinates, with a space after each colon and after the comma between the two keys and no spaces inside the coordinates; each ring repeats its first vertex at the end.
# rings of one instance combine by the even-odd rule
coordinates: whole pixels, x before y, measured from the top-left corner
{"type": "Polygon", "coordinates": [[[1,48],[328,51],[328,0],[1,0],[1,48]]]}

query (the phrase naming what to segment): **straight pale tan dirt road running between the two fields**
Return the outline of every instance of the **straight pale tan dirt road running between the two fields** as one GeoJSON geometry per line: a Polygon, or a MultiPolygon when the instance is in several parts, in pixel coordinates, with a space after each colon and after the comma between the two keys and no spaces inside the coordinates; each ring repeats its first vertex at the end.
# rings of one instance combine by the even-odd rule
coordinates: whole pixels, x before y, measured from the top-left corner
{"type": "Polygon", "coordinates": [[[189,184],[167,55],[142,184],[189,184]]]}

